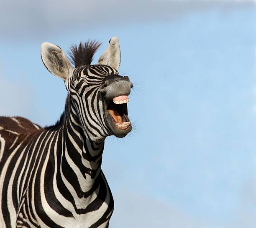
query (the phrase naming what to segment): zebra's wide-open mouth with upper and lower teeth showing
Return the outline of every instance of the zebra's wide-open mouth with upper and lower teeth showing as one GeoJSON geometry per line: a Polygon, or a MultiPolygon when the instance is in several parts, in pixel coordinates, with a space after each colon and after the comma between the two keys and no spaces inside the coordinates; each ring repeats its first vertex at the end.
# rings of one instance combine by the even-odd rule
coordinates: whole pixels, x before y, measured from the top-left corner
{"type": "MultiPolygon", "coordinates": [[[[114,130],[114,134],[116,132],[119,133],[120,131],[123,131],[124,133],[127,134],[129,131],[131,131],[131,123],[128,118],[128,112],[127,112],[128,102],[129,102],[129,98],[126,95],[118,96],[116,98],[113,98],[113,100],[109,100],[107,110],[108,110],[108,114],[112,119],[112,128],[115,129],[115,130],[112,129],[114,130]]],[[[116,136],[120,136],[120,135],[116,135],[116,136]]],[[[120,136],[120,137],[123,137],[123,136],[120,136]]]]}

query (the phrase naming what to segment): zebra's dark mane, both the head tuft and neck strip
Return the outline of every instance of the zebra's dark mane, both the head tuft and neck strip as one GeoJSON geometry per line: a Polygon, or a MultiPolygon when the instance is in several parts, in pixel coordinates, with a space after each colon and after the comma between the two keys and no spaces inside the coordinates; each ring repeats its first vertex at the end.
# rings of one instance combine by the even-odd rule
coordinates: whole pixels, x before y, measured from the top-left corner
{"type": "MultiPolygon", "coordinates": [[[[75,68],[90,65],[93,60],[93,55],[100,48],[100,45],[101,43],[96,40],[86,40],[85,42],[81,41],[78,45],[71,45],[70,50],[67,52],[69,55],[69,61],[75,66],[75,68]]],[[[45,129],[49,130],[52,128],[61,127],[69,118],[70,111],[70,95],[68,94],[65,109],[59,120],[54,125],[46,126],[45,129]]]]}

